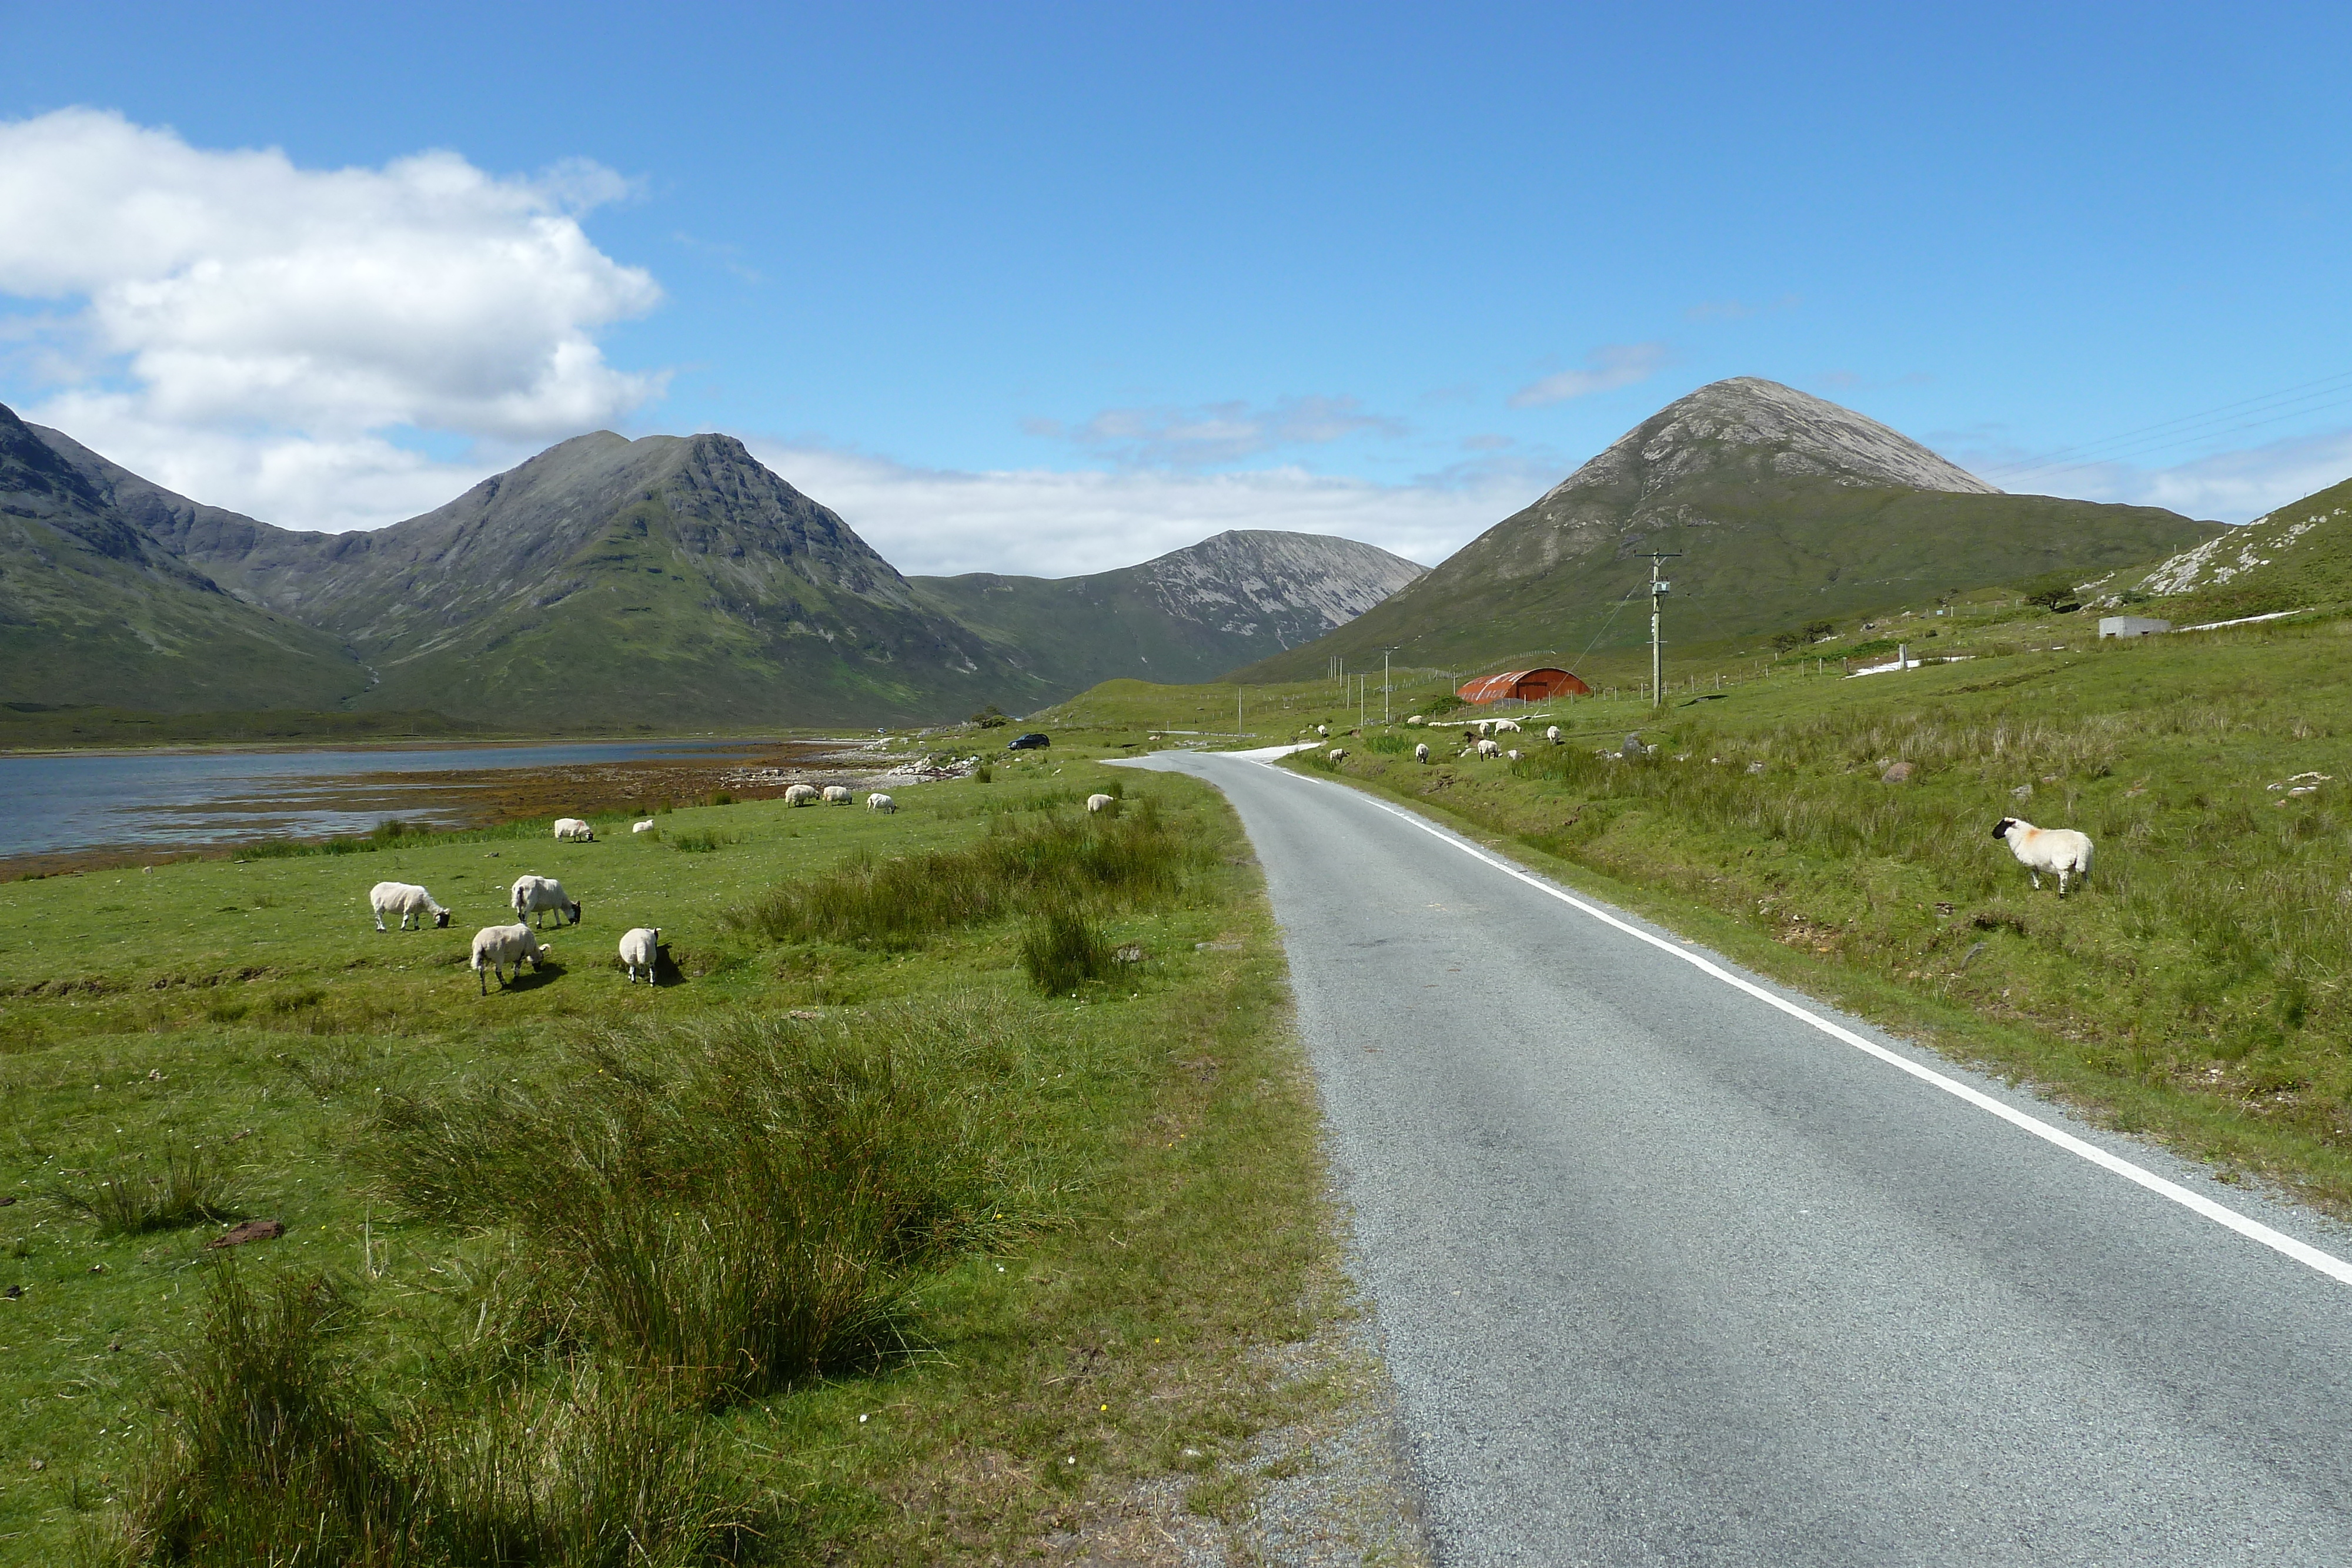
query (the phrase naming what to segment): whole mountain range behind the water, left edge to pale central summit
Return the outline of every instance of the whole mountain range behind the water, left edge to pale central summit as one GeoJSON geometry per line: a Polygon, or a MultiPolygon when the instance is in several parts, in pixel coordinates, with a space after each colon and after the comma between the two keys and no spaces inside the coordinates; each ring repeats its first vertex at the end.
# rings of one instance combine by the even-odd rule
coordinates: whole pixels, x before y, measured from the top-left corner
{"type": "Polygon", "coordinates": [[[1225,534],[1058,583],[910,581],[734,437],[609,430],[421,517],[308,534],[0,416],[0,646],[47,649],[0,691],[42,703],[659,731],[1028,712],[1103,675],[1216,675],[1421,574],[1225,534]]]}

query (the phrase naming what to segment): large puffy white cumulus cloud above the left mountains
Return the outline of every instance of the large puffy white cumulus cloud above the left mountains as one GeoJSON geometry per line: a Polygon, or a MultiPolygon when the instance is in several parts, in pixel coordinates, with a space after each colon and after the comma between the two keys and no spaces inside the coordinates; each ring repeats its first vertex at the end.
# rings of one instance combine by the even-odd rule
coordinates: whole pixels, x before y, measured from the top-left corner
{"type": "Polygon", "coordinates": [[[273,522],[390,522],[407,512],[381,505],[426,484],[445,501],[508,447],[659,390],[595,343],[661,299],[579,226],[626,190],[586,160],[539,179],[456,153],[299,169],[103,110],[0,122],[0,294],[45,303],[12,317],[9,360],[59,388],[26,414],[273,522]],[[435,463],[400,430],[499,451],[435,463]]]}

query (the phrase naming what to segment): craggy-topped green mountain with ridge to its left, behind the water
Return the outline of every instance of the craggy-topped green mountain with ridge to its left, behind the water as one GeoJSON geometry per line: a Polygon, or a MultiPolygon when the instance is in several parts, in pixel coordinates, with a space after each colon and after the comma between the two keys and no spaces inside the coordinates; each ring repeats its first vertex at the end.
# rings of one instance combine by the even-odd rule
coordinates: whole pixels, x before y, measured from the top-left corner
{"type": "Polygon", "coordinates": [[[374,677],[350,708],[675,729],[1044,701],[727,435],[583,435],[369,534],[273,529],[42,435],[183,562],[348,642],[374,677]]]}

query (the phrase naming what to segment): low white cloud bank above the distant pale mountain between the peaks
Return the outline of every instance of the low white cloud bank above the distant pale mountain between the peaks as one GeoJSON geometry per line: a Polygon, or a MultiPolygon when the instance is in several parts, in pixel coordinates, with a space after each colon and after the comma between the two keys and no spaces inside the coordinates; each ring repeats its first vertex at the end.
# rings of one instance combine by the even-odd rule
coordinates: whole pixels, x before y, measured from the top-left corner
{"type": "Polygon", "coordinates": [[[1131,567],[1225,529],[1336,534],[1437,564],[1557,480],[1550,470],[1519,465],[1468,465],[1409,484],[1298,468],[953,473],[788,442],[755,440],[750,449],[793,487],[837,510],[894,567],[917,576],[1082,576],[1131,567]]]}

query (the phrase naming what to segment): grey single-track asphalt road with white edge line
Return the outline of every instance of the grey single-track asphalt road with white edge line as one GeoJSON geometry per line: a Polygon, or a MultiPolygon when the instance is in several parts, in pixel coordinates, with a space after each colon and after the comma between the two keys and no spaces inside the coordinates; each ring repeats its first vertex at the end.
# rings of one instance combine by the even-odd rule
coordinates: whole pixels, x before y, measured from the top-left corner
{"type": "Polygon", "coordinates": [[[1446,1563],[2352,1563],[2352,1286],[1355,790],[1152,766],[1265,865],[1446,1563]]]}

